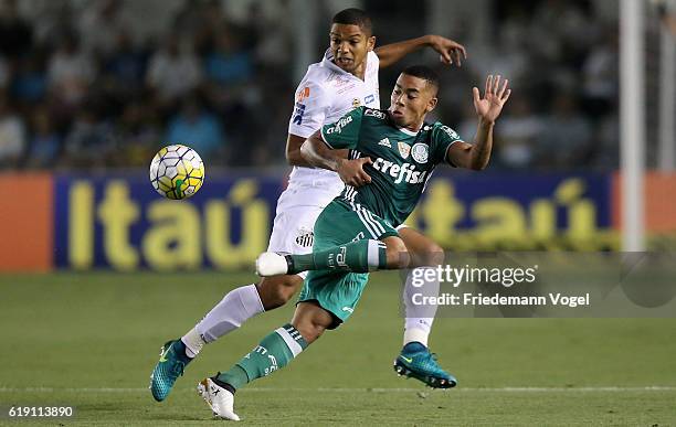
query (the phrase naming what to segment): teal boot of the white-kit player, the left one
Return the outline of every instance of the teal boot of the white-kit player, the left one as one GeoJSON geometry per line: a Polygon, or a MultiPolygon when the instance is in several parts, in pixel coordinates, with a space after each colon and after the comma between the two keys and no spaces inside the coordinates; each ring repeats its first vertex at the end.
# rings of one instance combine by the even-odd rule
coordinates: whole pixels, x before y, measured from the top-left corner
{"type": "Polygon", "coordinates": [[[176,380],[183,375],[186,365],[192,361],[186,354],[186,344],[180,339],[167,341],[160,351],[160,360],[150,374],[150,392],[157,402],[169,396],[176,380]]]}

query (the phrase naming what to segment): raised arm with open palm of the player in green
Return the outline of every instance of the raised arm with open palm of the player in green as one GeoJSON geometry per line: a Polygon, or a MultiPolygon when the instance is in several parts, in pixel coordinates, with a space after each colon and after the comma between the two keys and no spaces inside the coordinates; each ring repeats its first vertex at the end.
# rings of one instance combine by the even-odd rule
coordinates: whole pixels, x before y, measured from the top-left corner
{"type": "Polygon", "coordinates": [[[500,86],[500,76],[494,78],[492,75],[486,79],[486,92],[479,96],[478,88],[474,87],[474,108],[478,116],[478,127],[474,143],[457,141],[448,147],[446,159],[448,163],[458,168],[483,170],[488,166],[490,151],[493,150],[493,128],[495,120],[499,117],[503,106],[509,98],[511,89],[507,88],[508,81],[505,79],[500,86]]]}

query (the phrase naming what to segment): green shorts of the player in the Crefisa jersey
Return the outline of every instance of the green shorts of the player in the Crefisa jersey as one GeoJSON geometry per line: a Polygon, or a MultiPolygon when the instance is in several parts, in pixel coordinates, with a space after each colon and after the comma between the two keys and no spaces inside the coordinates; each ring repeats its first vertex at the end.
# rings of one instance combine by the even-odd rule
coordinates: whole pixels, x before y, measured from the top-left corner
{"type": "MultiPolygon", "coordinates": [[[[317,217],[313,250],[389,236],[399,236],[399,233],[388,222],[358,203],[335,199],[317,217]]],[[[298,302],[313,301],[330,312],[334,323],[329,329],[335,329],[352,314],[368,279],[368,273],[309,271],[298,302]]]]}

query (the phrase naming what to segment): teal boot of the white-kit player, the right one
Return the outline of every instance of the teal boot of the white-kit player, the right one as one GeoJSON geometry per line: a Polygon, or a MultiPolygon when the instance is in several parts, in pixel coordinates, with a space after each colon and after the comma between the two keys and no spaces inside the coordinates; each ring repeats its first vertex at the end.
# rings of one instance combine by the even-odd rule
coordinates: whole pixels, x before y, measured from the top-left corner
{"type": "Polygon", "coordinates": [[[451,388],[457,385],[455,376],[436,363],[436,354],[420,342],[410,342],[394,360],[394,372],[419,380],[432,388],[451,388]]]}

